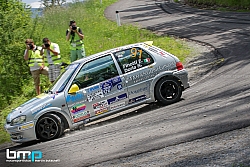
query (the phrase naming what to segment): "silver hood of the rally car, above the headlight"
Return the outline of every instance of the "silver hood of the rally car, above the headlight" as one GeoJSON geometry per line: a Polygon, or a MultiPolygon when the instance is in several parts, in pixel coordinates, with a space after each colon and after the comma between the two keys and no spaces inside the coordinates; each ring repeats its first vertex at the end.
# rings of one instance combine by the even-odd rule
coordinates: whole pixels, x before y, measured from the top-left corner
{"type": "Polygon", "coordinates": [[[37,112],[50,106],[50,101],[52,100],[52,98],[53,97],[50,94],[43,93],[28,100],[9,113],[6,118],[7,123],[10,123],[13,118],[21,115],[36,114],[37,112]]]}

